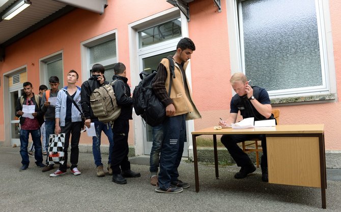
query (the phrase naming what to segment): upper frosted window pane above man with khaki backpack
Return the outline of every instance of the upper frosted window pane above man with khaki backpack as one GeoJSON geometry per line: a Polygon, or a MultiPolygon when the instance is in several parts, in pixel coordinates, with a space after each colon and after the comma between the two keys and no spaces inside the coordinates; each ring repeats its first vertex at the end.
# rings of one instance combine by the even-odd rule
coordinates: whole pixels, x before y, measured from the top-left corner
{"type": "Polygon", "coordinates": [[[97,63],[113,57],[116,57],[115,39],[90,47],[90,63],[97,63]]]}

